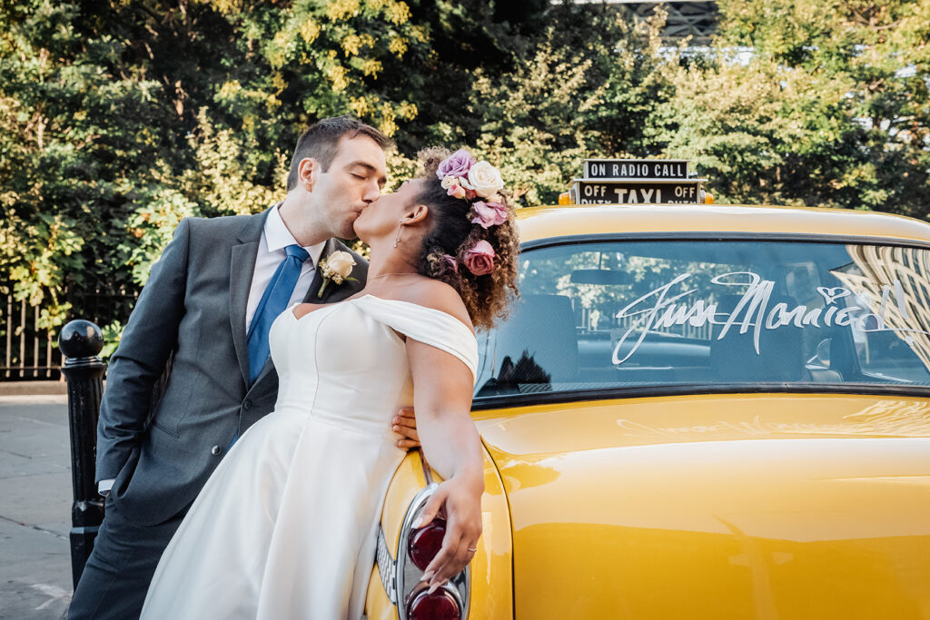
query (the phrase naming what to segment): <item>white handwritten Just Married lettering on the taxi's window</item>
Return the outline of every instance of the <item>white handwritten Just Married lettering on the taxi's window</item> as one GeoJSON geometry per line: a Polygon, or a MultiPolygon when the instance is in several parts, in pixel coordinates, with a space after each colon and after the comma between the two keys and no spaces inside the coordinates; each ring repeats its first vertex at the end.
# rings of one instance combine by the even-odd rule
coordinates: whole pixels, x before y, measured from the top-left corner
{"type": "MultiPolygon", "coordinates": [[[[751,331],[753,347],[757,355],[761,354],[759,336],[763,330],[775,330],[786,325],[795,327],[811,325],[814,327],[830,327],[831,325],[842,327],[851,325],[853,329],[860,332],[930,333],[918,329],[887,326],[885,315],[892,292],[895,294],[901,316],[908,318],[903,289],[897,279],[893,286],[883,285],[879,310],[873,312],[860,306],[839,305],[837,302],[840,299],[853,295],[852,291],[843,286],[817,287],[817,293],[824,299],[822,308],[808,308],[804,304],[798,304],[790,308],[789,304],[785,302],[771,305],[772,293],[775,290],[774,281],[764,280],[762,276],[752,271],[731,271],[712,278],[711,283],[727,287],[744,287],[746,290],[739,297],[733,310],[719,311],[717,304],[706,299],[685,299],[694,294],[697,290],[694,288],[670,295],[676,285],[684,283],[690,277],[690,273],[682,273],[673,278],[668,284],[663,284],[646,293],[618,311],[616,315],[618,320],[633,318],[633,321],[614,348],[613,363],[620,364],[629,360],[649,334],[657,333],[662,329],[675,325],[684,325],[685,323],[692,327],[701,327],[707,324],[720,325],[720,330],[716,336],[717,340],[724,338],[727,334],[737,332],[737,330],[739,334],[746,334],[751,331]],[[636,340],[633,342],[631,349],[620,357],[620,350],[631,335],[636,335],[636,340]]],[[[913,341],[910,335],[905,336],[904,340],[908,344],[913,341]]]]}

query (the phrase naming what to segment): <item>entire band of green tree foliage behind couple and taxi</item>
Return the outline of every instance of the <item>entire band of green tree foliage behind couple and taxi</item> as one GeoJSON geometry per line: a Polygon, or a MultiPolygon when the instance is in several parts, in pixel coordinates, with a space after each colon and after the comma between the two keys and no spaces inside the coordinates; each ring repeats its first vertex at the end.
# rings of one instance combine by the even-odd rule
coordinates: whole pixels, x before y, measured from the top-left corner
{"type": "Polygon", "coordinates": [[[299,132],[341,113],[396,139],[392,181],[468,145],[522,205],[584,157],[668,156],[718,202],[930,216],[930,0],[717,4],[702,50],[616,4],[3,3],[0,284],[48,326],[138,290],[180,218],[280,200],[299,132]]]}

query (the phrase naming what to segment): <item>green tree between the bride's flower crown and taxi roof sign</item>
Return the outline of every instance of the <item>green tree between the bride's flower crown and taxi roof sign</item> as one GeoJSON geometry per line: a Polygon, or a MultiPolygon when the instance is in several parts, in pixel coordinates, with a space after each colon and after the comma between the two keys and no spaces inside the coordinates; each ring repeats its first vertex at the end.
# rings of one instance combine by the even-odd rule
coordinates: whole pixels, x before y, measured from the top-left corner
{"type": "Polygon", "coordinates": [[[664,96],[658,32],[617,7],[565,5],[553,25],[512,53],[513,68],[479,70],[469,114],[473,137],[501,166],[522,205],[553,204],[591,156],[644,154],[646,119],[664,96]]]}

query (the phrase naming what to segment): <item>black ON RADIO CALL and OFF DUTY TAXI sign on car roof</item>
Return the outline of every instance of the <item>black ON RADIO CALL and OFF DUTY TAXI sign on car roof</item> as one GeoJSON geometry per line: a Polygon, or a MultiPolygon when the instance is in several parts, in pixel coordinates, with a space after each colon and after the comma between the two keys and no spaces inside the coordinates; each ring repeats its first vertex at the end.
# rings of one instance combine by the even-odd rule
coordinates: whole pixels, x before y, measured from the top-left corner
{"type": "Polygon", "coordinates": [[[574,204],[699,204],[707,181],[689,177],[684,159],[586,159],[572,180],[574,204]]]}

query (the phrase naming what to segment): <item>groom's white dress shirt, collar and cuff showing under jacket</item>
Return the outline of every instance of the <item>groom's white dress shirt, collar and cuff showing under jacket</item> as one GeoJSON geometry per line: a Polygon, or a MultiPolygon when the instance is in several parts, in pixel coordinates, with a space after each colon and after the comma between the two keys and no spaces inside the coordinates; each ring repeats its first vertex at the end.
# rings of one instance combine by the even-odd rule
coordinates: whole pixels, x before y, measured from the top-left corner
{"type": "MultiPolygon", "coordinates": [[[[255,317],[255,310],[259,307],[261,296],[265,293],[265,287],[272,281],[274,271],[278,269],[287,257],[285,248],[288,245],[299,245],[294,235],[287,230],[285,220],[278,213],[281,203],[275,204],[268,218],[265,219],[265,228],[261,231],[259,240],[259,253],[255,257],[255,270],[252,271],[252,284],[248,289],[248,303],[246,304],[246,334],[252,324],[252,318],[255,317]]],[[[315,245],[303,245],[303,249],[310,255],[304,261],[300,268],[300,275],[297,284],[294,286],[294,293],[291,294],[290,301],[287,302],[287,308],[303,301],[313,282],[313,276],[316,273],[316,265],[320,261],[320,255],[323,254],[323,247],[326,242],[315,245]]],[[[113,481],[101,480],[97,485],[97,492],[100,495],[110,493],[113,488],[113,481]]]]}

